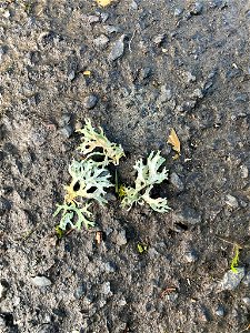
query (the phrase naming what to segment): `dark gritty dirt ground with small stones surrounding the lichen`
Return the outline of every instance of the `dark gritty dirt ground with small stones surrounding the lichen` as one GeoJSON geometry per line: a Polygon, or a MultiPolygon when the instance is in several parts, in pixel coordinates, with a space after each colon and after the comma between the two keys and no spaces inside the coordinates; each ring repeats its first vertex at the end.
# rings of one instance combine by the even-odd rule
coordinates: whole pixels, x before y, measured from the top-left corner
{"type": "Polygon", "coordinates": [[[1,332],[248,331],[249,27],[247,0],[1,0],[1,332]],[[170,213],[110,193],[57,241],[84,118],[124,148],[122,182],[162,151],[170,213]]]}

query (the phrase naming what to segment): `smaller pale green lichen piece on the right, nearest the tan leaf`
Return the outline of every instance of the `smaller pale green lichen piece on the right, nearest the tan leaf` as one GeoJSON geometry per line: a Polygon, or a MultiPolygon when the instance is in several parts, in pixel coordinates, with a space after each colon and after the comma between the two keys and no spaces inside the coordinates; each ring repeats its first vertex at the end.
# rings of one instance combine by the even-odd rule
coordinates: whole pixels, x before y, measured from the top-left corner
{"type": "Polygon", "coordinates": [[[159,169],[164,163],[166,159],[160,155],[160,151],[154,153],[153,151],[147,159],[144,164],[142,159],[136,162],[133,169],[137,171],[137,179],[134,181],[134,188],[122,185],[122,201],[121,205],[130,210],[133,204],[148,203],[152,210],[163,213],[170,210],[167,199],[150,196],[150,192],[154,184],[160,184],[168,179],[168,171],[166,168],[159,169]]]}

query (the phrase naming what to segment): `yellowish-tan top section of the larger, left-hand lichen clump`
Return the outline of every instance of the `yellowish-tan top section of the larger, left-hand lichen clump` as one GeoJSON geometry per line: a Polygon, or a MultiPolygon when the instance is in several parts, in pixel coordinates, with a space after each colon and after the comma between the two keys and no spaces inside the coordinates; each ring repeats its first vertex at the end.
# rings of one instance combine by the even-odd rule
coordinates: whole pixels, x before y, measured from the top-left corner
{"type": "Polygon", "coordinates": [[[86,125],[83,129],[78,130],[77,132],[83,134],[82,143],[78,147],[83,155],[102,155],[104,161],[102,164],[113,163],[114,165],[119,164],[119,161],[124,157],[124,151],[120,144],[110,142],[109,139],[104,135],[102,128],[99,128],[97,131],[92,128],[91,121],[86,119],[86,125]],[[102,150],[101,152],[94,150],[102,150]]]}

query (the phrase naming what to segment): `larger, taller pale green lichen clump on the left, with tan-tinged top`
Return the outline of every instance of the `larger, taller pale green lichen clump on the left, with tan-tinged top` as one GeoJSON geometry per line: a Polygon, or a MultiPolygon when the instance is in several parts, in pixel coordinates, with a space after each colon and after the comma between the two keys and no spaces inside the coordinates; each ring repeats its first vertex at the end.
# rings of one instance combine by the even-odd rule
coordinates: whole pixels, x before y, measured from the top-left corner
{"type": "Polygon", "coordinates": [[[86,127],[78,132],[83,134],[82,143],[78,148],[83,154],[83,160],[73,160],[69,165],[72,179],[70,184],[64,186],[63,204],[58,204],[53,214],[57,216],[61,213],[59,223],[61,230],[66,230],[68,225],[80,229],[82,223],[87,229],[94,225],[89,208],[93,201],[101,205],[107,203],[106,189],[113,186],[107,167],[109,163],[118,165],[124,155],[121,145],[110,142],[101,128],[99,132],[96,131],[90,120],[86,120],[86,127]],[[94,161],[93,158],[97,157],[101,158],[101,161],[94,161]]]}

